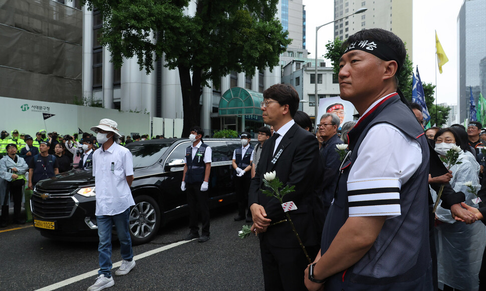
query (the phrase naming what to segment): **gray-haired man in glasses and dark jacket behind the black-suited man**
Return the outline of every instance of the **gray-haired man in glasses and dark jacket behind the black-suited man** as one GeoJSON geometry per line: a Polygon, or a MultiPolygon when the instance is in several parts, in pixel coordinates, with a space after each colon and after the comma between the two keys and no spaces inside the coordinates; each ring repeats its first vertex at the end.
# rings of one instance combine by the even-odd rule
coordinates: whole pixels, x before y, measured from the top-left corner
{"type": "Polygon", "coordinates": [[[343,143],[338,136],[338,127],[341,120],[339,116],[333,113],[324,113],[321,122],[318,124],[319,134],[323,138],[320,149],[320,158],[322,166],[322,175],[319,179],[318,195],[324,203],[324,217],[327,215],[333,199],[334,189],[339,174],[339,153],[336,144],[343,143]]]}

